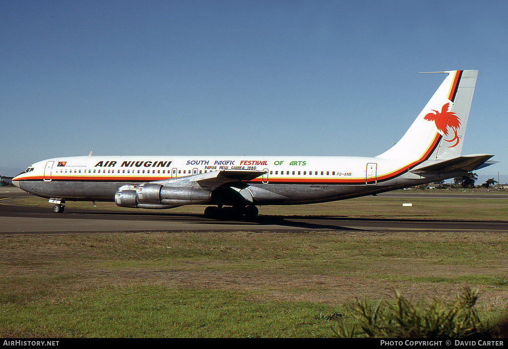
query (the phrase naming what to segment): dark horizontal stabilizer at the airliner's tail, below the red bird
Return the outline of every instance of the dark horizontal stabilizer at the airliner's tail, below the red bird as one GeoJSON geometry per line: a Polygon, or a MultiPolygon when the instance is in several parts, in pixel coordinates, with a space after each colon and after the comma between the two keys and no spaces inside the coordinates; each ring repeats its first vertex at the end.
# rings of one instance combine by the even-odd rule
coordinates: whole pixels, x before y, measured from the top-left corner
{"type": "Polygon", "coordinates": [[[439,161],[409,170],[411,173],[421,175],[423,173],[453,173],[453,172],[470,172],[475,169],[490,166],[498,161],[487,161],[494,155],[474,154],[459,156],[450,160],[439,161]]]}

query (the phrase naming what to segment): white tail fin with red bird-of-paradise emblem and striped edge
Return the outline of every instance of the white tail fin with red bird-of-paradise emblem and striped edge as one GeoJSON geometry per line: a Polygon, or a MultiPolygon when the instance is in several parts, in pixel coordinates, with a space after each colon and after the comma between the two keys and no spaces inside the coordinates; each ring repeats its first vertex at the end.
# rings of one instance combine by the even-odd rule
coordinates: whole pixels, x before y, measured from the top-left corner
{"type": "Polygon", "coordinates": [[[460,156],[478,71],[450,71],[400,141],[377,158],[447,160],[460,156]]]}

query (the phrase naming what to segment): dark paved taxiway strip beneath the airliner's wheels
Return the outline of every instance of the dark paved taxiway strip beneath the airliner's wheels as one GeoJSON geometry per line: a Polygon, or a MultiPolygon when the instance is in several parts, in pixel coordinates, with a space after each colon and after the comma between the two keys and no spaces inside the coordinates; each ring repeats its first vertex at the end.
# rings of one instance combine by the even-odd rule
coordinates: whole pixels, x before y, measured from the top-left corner
{"type": "MultiPolygon", "coordinates": [[[[386,195],[386,194],[385,194],[386,195]]],[[[50,207],[20,206],[13,198],[31,195],[18,188],[0,189],[0,234],[97,233],[142,231],[496,231],[508,232],[507,221],[348,218],[338,216],[263,216],[251,221],[216,221],[203,215],[163,211],[85,210],[54,214],[50,207]]],[[[485,198],[488,198],[486,196],[485,198]]],[[[478,197],[477,197],[478,198],[478,197]]]]}

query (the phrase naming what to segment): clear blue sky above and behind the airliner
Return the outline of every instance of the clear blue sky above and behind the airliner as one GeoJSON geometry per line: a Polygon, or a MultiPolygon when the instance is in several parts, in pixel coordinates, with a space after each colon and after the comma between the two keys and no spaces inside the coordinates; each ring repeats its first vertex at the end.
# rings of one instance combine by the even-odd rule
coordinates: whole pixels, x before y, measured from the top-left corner
{"type": "MultiPolygon", "coordinates": [[[[479,69],[463,154],[508,179],[506,1],[4,1],[0,173],[87,155],[375,156],[479,69]]],[[[506,180],[504,180],[506,181],[506,180]]]]}

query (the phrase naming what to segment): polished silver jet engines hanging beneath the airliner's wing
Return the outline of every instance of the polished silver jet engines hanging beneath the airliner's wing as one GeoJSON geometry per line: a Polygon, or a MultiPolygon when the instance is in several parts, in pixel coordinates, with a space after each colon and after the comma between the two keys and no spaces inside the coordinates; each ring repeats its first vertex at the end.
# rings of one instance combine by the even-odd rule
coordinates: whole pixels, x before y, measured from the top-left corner
{"type": "Polygon", "coordinates": [[[210,202],[211,192],[196,187],[168,187],[158,183],[126,185],[118,189],[115,202],[120,207],[173,208],[210,202]]]}

